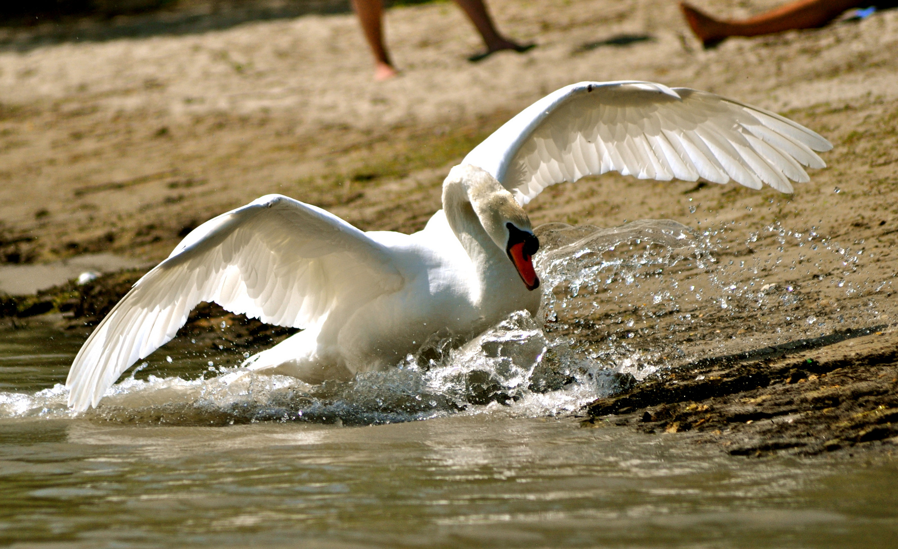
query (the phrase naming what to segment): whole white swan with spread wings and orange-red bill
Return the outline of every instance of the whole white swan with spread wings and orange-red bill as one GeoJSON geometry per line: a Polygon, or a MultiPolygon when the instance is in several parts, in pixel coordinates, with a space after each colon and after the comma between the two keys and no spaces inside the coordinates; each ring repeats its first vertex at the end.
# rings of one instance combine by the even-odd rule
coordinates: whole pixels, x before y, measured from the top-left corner
{"type": "Polygon", "coordinates": [[[96,327],[66,385],[97,405],[171,340],[200,301],[304,330],[247,361],[310,382],[398,362],[438,331],[475,335],[535,312],[539,247],[522,205],[562,181],[615,170],[640,179],[729,179],[791,192],[823,168],[823,137],[767,110],[646,82],[577,83],[533,103],[454,167],[423,231],[362,232],[286,196],[203,223],[96,327]]]}

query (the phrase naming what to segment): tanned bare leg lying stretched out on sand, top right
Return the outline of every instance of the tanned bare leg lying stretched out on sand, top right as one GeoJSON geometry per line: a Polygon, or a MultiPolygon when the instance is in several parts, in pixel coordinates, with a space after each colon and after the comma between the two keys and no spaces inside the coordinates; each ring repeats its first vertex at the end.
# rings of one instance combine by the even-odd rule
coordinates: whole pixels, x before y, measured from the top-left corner
{"type": "MultiPolygon", "coordinates": [[[[867,2],[868,4],[869,2],[867,2]]],[[[797,0],[743,21],[721,21],[680,3],[686,22],[706,48],[731,36],[759,36],[784,30],[815,29],[831,22],[864,0],[797,0]]]]}

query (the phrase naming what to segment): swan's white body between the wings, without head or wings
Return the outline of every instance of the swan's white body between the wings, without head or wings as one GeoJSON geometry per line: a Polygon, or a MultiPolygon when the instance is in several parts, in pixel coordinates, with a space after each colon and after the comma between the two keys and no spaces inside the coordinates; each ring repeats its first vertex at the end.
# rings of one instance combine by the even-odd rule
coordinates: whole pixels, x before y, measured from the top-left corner
{"type": "MultiPolygon", "coordinates": [[[[283,196],[263,196],[261,201],[301,204],[283,196]]],[[[477,335],[515,310],[535,314],[540,293],[524,287],[515,266],[480,223],[471,223],[463,234],[467,247],[443,210],[411,235],[365,233],[389,250],[390,265],[399,276],[386,278],[395,285],[371,301],[335,309],[325,322],[255,355],[246,365],[308,382],[347,379],[359,369],[396,365],[437,332],[477,335]],[[489,266],[495,268],[485,268],[489,266]]]]}

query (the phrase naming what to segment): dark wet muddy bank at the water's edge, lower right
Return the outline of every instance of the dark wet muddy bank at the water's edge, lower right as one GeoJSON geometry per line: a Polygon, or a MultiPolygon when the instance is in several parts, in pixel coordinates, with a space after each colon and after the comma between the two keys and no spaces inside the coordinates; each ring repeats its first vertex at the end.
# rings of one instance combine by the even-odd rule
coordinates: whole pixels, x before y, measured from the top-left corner
{"type": "Polygon", "coordinates": [[[735,456],[898,446],[898,330],[847,330],[645,379],[586,407],[585,427],[689,431],[735,456]]]}

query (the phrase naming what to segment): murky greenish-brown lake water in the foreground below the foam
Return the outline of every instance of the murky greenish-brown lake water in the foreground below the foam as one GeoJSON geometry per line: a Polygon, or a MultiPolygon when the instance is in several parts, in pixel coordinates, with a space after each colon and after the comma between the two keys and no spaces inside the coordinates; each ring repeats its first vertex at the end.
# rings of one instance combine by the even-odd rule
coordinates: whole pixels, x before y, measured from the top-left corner
{"type": "MultiPolygon", "coordinates": [[[[48,328],[0,332],[4,545],[843,549],[898,540],[898,464],[888,457],[730,457],[678,434],[581,428],[525,398],[374,425],[326,414],[253,421],[233,406],[163,412],[174,424],[160,425],[123,414],[128,401],[73,418],[47,394],[81,343],[48,328]]],[[[181,349],[192,359],[172,364],[210,358],[181,349]]]]}

